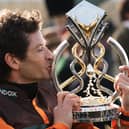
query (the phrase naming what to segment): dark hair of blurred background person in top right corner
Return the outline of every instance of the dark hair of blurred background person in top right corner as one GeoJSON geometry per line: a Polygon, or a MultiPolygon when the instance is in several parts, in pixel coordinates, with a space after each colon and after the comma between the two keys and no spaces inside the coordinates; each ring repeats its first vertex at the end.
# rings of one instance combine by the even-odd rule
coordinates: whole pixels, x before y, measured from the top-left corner
{"type": "Polygon", "coordinates": [[[121,4],[121,8],[120,8],[120,20],[121,21],[128,19],[126,17],[127,13],[129,13],[129,0],[124,0],[121,4]]]}

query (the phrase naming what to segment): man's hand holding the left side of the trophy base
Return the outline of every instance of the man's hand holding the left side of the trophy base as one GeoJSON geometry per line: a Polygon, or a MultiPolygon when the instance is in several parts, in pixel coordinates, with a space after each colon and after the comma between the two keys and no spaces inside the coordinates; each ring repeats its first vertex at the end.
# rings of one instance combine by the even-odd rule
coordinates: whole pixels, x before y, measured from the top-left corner
{"type": "Polygon", "coordinates": [[[54,109],[54,123],[64,123],[69,128],[72,126],[73,110],[80,110],[80,97],[69,93],[69,92],[59,92],[57,94],[58,104],[54,109]]]}

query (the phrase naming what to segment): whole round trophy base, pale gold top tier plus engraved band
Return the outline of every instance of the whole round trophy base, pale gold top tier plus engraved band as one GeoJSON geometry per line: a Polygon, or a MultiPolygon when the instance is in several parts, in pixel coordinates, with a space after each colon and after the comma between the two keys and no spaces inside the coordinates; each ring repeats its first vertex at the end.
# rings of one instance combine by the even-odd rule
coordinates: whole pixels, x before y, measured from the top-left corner
{"type": "Polygon", "coordinates": [[[119,106],[108,101],[100,97],[84,98],[81,111],[73,112],[73,119],[78,122],[103,122],[118,118],[119,106]]]}

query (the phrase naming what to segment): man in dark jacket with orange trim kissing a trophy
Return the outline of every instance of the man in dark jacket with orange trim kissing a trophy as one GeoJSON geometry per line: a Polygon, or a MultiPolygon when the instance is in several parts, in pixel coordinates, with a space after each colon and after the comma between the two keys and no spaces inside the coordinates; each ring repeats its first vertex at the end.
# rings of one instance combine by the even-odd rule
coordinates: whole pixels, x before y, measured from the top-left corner
{"type": "MultiPolygon", "coordinates": [[[[39,89],[38,81],[51,78],[53,60],[52,53],[45,46],[39,23],[37,11],[0,12],[0,129],[70,129],[72,111],[80,109],[78,96],[60,92],[53,111],[49,104],[55,101],[54,98],[45,98],[49,91],[41,86],[39,89]],[[51,116],[54,118],[50,119],[51,116]]],[[[119,80],[115,87],[119,87],[119,80]]],[[[127,102],[127,99],[122,99],[127,102]]],[[[128,105],[123,107],[128,111],[128,105]]],[[[129,125],[128,120],[123,121],[129,125]]],[[[113,129],[118,129],[116,123],[113,129]]],[[[122,127],[124,124],[121,123],[122,127]]],[[[73,128],[96,129],[85,123],[75,123],[73,128]]]]}

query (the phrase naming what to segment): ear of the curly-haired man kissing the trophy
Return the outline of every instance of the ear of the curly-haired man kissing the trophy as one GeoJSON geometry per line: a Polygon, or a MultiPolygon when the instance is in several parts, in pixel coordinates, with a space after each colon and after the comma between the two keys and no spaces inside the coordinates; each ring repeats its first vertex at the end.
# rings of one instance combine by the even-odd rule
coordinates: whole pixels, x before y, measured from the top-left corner
{"type": "Polygon", "coordinates": [[[16,56],[11,53],[6,53],[4,59],[10,68],[14,70],[19,69],[20,60],[16,56]]]}

